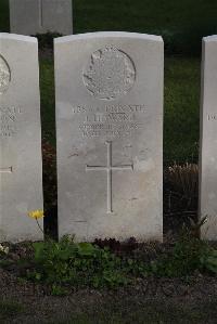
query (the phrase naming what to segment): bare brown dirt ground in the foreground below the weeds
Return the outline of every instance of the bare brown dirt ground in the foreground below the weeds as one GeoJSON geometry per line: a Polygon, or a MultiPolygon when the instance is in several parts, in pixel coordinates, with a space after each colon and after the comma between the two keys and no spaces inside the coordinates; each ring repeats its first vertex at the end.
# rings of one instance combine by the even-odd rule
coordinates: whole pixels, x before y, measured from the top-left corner
{"type": "Polygon", "coordinates": [[[55,297],[0,269],[0,323],[217,323],[217,281],[202,275],[55,297]]]}

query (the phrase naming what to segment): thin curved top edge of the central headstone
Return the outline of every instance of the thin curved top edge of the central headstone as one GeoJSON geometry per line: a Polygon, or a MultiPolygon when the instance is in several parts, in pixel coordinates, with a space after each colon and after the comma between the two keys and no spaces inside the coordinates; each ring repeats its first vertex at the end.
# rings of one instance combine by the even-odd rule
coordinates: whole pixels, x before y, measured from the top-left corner
{"type": "Polygon", "coordinates": [[[110,38],[110,37],[111,38],[143,39],[143,40],[163,42],[163,38],[161,36],[140,34],[140,33],[128,33],[128,31],[97,31],[97,33],[71,35],[71,36],[58,37],[54,39],[54,42],[61,43],[61,42],[67,42],[67,41],[73,41],[73,40],[110,38]]]}

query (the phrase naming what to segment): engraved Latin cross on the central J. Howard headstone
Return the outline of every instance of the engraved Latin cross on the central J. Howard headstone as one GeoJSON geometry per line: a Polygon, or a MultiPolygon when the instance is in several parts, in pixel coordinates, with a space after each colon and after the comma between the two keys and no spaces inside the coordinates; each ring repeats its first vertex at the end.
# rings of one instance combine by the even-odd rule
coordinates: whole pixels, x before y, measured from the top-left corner
{"type": "Polygon", "coordinates": [[[112,176],[113,171],[133,170],[133,165],[113,166],[112,163],[112,142],[105,142],[107,145],[107,165],[106,166],[86,166],[86,171],[107,171],[107,213],[113,212],[112,202],[112,176]]]}

